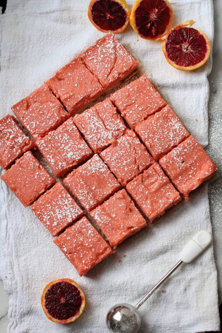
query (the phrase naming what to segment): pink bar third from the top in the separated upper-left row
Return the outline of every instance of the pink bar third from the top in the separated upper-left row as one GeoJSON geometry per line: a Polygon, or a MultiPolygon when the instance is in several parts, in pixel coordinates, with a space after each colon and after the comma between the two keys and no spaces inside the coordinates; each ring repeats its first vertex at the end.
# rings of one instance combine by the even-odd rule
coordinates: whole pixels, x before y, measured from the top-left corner
{"type": "Polygon", "coordinates": [[[44,137],[70,117],[46,85],[11,109],[33,139],[44,137]]]}

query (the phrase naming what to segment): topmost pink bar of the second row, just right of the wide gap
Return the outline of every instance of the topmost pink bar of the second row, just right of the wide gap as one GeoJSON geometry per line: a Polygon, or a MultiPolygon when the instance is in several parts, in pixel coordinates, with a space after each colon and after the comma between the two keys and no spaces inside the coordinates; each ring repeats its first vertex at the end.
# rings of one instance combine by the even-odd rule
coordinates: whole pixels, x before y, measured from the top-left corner
{"type": "Polygon", "coordinates": [[[131,129],[166,106],[146,75],[117,90],[110,98],[131,129]]]}

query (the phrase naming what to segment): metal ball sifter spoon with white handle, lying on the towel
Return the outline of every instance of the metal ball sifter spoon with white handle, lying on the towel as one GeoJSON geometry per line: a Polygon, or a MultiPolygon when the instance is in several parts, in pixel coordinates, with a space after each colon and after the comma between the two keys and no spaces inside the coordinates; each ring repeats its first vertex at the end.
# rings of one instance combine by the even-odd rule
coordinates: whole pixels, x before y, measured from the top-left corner
{"type": "Polygon", "coordinates": [[[189,263],[202,253],[211,243],[212,236],[206,230],[199,231],[180,252],[180,261],[145,295],[139,303],[132,306],[119,303],[111,307],[106,323],[111,333],[136,333],[141,325],[138,308],[161,286],[161,284],[183,263],[189,263]]]}

